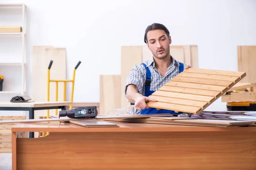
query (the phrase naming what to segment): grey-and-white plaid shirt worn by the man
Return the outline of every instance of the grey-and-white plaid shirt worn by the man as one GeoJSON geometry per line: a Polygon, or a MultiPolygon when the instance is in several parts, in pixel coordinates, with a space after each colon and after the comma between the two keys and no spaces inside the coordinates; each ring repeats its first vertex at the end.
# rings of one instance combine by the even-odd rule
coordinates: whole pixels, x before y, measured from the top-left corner
{"type": "MultiPolygon", "coordinates": [[[[172,57],[172,56],[171,56],[172,57]]],[[[155,68],[154,58],[144,62],[145,65],[149,68],[151,72],[151,84],[150,91],[157,91],[171,79],[179,74],[179,62],[172,57],[172,63],[166,71],[165,76],[163,77],[160,72],[155,68]]],[[[184,69],[186,64],[184,64],[184,69]]],[[[145,96],[145,81],[146,81],[146,69],[143,65],[134,65],[131,69],[130,74],[126,79],[125,85],[125,96],[126,89],[128,85],[136,85],[139,93],[145,96]]]]}

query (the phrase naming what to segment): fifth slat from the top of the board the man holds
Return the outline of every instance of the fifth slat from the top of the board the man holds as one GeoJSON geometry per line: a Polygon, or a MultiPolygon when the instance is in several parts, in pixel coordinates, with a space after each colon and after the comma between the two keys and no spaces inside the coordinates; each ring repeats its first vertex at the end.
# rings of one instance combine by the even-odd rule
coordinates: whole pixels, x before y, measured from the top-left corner
{"type": "Polygon", "coordinates": [[[196,94],[202,96],[218,96],[221,94],[219,91],[207,91],[201,89],[192,89],[192,88],[182,88],[182,87],[172,87],[172,86],[162,86],[158,89],[159,91],[169,91],[169,92],[177,92],[177,93],[184,93],[184,94],[196,94]]]}

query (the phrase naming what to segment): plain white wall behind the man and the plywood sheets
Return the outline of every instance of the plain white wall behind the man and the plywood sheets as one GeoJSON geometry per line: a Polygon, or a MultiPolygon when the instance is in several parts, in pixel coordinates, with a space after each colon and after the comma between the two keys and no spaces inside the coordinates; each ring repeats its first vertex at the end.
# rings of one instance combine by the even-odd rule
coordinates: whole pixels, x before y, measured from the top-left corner
{"type": "MultiPolygon", "coordinates": [[[[67,49],[74,102],[99,102],[99,74],[120,74],[122,45],[145,45],[145,28],[163,23],[173,45],[198,45],[199,68],[237,71],[237,45],[256,45],[254,0],[0,0],[27,6],[28,95],[32,46],[67,49]]],[[[1,18],[0,18],[1,19],[1,18]]],[[[175,57],[175,56],[174,56],[175,57]]],[[[3,56],[0,56],[0,60],[3,56]]],[[[68,88],[68,98],[71,87],[68,88]]],[[[225,110],[221,99],[207,110],[225,110]]]]}

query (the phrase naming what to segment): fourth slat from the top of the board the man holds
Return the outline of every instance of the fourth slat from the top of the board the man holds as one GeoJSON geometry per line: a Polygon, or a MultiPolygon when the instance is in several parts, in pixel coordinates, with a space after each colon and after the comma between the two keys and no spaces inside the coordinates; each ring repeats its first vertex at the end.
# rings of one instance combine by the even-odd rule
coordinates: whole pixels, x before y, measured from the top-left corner
{"type": "Polygon", "coordinates": [[[173,86],[173,87],[183,87],[183,88],[209,90],[209,91],[224,91],[224,90],[227,89],[227,87],[224,87],[224,86],[203,85],[203,84],[195,84],[195,83],[187,83],[187,82],[175,82],[175,81],[169,81],[165,85],[173,86]]]}

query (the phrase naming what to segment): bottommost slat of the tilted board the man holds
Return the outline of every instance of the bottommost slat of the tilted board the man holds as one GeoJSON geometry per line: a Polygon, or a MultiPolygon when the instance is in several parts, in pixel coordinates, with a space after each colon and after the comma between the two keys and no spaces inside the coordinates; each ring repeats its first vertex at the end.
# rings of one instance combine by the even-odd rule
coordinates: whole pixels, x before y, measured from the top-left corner
{"type": "Polygon", "coordinates": [[[148,102],[147,105],[149,107],[153,107],[157,109],[169,109],[174,111],[182,111],[182,112],[189,112],[189,113],[195,113],[195,114],[201,111],[201,108],[199,107],[177,105],[177,104],[170,104],[170,103],[163,103],[163,102],[148,102]]]}

